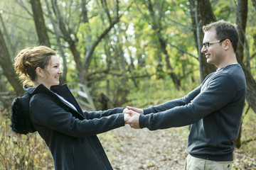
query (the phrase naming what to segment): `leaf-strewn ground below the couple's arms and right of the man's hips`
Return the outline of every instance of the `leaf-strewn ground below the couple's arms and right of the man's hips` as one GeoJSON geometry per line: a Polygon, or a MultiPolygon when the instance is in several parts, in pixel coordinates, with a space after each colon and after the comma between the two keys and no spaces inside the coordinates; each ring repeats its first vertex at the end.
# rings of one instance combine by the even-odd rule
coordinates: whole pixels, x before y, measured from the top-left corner
{"type": "MultiPolygon", "coordinates": [[[[149,131],[126,125],[99,135],[113,169],[183,169],[188,127],[149,131]]],[[[256,169],[256,156],[235,149],[233,169],[256,169]]]]}

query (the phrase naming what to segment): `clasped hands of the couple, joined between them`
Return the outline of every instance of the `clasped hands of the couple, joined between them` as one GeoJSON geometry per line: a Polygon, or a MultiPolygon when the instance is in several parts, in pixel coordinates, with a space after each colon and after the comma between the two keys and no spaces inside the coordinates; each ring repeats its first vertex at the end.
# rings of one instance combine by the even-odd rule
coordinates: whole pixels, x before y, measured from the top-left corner
{"type": "Polygon", "coordinates": [[[131,128],[139,129],[139,115],[144,114],[142,108],[127,106],[127,108],[124,108],[123,113],[125,124],[129,124],[131,128]]]}

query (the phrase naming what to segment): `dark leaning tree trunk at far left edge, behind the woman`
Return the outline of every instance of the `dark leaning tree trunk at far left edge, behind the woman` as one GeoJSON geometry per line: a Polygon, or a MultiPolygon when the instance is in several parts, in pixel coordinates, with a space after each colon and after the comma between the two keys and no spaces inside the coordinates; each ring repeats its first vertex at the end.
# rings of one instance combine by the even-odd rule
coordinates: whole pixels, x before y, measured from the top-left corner
{"type": "Polygon", "coordinates": [[[1,33],[0,29],[0,65],[3,69],[4,76],[9,81],[11,86],[14,87],[14,91],[16,92],[17,96],[23,94],[23,88],[21,82],[18,81],[18,77],[14,71],[13,62],[11,61],[11,56],[9,50],[6,46],[6,42],[4,40],[4,35],[1,33]]]}

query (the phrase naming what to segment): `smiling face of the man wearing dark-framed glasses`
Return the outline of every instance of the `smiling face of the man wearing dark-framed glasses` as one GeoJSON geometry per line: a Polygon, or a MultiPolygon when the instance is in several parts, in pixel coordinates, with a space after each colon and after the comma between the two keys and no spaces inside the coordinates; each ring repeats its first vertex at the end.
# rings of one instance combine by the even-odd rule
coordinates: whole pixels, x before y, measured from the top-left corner
{"type": "Polygon", "coordinates": [[[215,28],[210,29],[206,31],[203,37],[203,47],[201,49],[201,52],[206,55],[207,62],[214,64],[216,67],[220,66],[223,60],[223,47],[221,42],[218,41],[215,28]]]}

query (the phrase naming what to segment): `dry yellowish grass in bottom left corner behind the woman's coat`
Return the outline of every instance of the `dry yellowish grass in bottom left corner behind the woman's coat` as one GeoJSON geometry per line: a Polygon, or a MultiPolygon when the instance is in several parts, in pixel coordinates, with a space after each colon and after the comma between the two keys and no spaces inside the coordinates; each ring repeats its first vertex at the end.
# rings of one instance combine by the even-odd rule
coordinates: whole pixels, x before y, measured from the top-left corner
{"type": "Polygon", "coordinates": [[[10,120],[1,112],[0,169],[53,169],[48,147],[38,133],[17,135],[10,120]]]}

